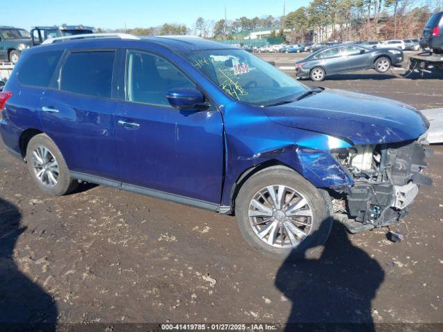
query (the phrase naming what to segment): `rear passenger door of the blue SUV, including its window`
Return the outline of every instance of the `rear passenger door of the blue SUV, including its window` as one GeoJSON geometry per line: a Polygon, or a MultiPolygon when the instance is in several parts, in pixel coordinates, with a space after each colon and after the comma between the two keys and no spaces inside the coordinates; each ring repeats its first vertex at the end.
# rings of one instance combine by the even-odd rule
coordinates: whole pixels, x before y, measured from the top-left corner
{"type": "Polygon", "coordinates": [[[59,147],[71,172],[118,180],[113,89],[116,50],[68,51],[54,89],[42,98],[44,131],[59,147]]]}

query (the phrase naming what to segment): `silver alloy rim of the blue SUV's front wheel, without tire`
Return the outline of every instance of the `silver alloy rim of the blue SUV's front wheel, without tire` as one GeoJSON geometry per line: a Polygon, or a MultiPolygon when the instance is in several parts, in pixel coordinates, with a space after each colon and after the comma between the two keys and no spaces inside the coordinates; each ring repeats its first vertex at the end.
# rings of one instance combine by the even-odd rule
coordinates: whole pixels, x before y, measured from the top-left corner
{"type": "Polygon", "coordinates": [[[253,196],[248,218],[264,243],[276,248],[294,248],[312,229],[312,210],[302,194],[286,185],[269,185],[253,196]]]}

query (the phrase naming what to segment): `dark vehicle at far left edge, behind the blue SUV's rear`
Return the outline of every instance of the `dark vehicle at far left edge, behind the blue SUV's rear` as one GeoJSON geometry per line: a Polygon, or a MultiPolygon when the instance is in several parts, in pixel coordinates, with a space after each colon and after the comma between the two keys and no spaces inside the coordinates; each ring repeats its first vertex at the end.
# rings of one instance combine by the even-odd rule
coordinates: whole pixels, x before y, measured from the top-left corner
{"type": "Polygon", "coordinates": [[[17,64],[22,50],[30,46],[30,35],[24,29],[0,26],[0,61],[17,64]]]}

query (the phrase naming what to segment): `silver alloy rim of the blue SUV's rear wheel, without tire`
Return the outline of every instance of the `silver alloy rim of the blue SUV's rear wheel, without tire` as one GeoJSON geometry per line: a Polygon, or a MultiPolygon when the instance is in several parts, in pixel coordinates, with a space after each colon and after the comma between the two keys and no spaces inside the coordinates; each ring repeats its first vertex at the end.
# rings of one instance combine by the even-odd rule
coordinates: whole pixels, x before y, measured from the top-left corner
{"type": "Polygon", "coordinates": [[[59,169],[57,160],[46,147],[33,151],[33,168],[38,180],[48,187],[57,185],[59,169]]]}

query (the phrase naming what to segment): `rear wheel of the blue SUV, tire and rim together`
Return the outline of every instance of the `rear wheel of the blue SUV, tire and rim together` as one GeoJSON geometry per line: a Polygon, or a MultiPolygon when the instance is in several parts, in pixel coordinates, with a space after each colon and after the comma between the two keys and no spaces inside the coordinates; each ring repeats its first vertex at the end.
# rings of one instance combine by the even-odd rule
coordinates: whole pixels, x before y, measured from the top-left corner
{"type": "Polygon", "coordinates": [[[48,195],[62,196],[78,186],[78,181],[71,178],[57,145],[44,133],[30,139],[26,162],[30,177],[48,195]]]}

